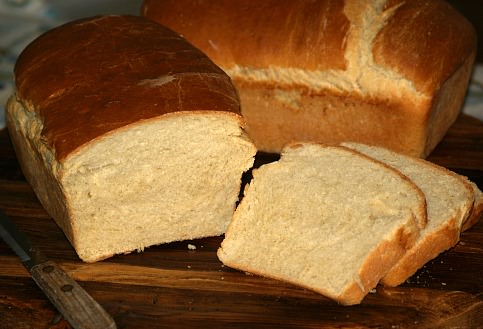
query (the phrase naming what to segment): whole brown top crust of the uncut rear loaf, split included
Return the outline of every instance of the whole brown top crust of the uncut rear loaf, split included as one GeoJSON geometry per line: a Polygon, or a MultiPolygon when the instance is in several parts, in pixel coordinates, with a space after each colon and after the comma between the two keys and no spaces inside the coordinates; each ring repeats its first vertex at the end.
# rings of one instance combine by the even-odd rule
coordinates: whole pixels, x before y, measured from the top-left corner
{"type": "Polygon", "coordinates": [[[368,86],[395,76],[432,95],[476,51],[473,27],[442,0],[145,0],[143,14],[227,71],[345,70],[353,88],[374,72],[368,86]]]}

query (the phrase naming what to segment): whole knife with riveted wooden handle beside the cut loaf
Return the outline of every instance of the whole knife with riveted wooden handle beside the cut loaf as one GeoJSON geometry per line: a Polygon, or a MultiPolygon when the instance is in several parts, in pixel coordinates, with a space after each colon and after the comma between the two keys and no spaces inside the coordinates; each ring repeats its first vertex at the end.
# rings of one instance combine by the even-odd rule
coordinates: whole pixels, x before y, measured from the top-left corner
{"type": "Polygon", "coordinates": [[[112,317],[56,263],[48,260],[0,210],[0,237],[20,257],[35,283],[75,329],[115,329],[112,317]]]}

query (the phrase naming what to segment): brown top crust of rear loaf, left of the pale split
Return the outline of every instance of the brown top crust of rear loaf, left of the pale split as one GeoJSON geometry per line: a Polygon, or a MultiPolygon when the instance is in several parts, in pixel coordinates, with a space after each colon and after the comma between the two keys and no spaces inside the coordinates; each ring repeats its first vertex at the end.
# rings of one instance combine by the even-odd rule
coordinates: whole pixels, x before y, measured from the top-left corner
{"type": "Polygon", "coordinates": [[[154,0],[144,2],[143,13],[185,33],[223,67],[325,70],[346,67],[343,9],[338,0],[154,0]]]}

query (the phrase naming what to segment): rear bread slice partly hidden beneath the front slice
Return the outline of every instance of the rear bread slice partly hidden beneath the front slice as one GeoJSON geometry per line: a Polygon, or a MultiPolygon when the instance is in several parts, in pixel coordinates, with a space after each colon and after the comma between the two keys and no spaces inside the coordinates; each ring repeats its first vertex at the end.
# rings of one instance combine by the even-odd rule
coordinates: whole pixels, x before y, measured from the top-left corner
{"type": "Polygon", "coordinates": [[[401,171],[419,186],[426,197],[428,224],[416,244],[381,280],[385,285],[397,286],[459,241],[462,225],[473,207],[474,190],[460,175],[429,161],[381,147],[358,143],[342,145],[401,171]]]}

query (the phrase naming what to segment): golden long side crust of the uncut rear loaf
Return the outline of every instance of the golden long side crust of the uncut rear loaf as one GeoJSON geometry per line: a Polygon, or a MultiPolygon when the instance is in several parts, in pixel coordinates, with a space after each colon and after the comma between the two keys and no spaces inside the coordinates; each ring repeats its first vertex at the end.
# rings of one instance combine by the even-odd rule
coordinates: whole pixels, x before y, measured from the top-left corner
{"type": "Polygon", "coordinates": [[[427,117],[422,112],[406,116],[407,106],[418,105],[412,100],[369,98],[330,90],[314,95],[306,88],[277,88],[275,84],[239,78],[233,82],[243,90],[240,102],[247,132],[257,148],[265,152],[279,153],[281,141],[285,145],[357,141],[369,145],[384,143],[385,147],[405,154],[425,153],[427,117]]]}

